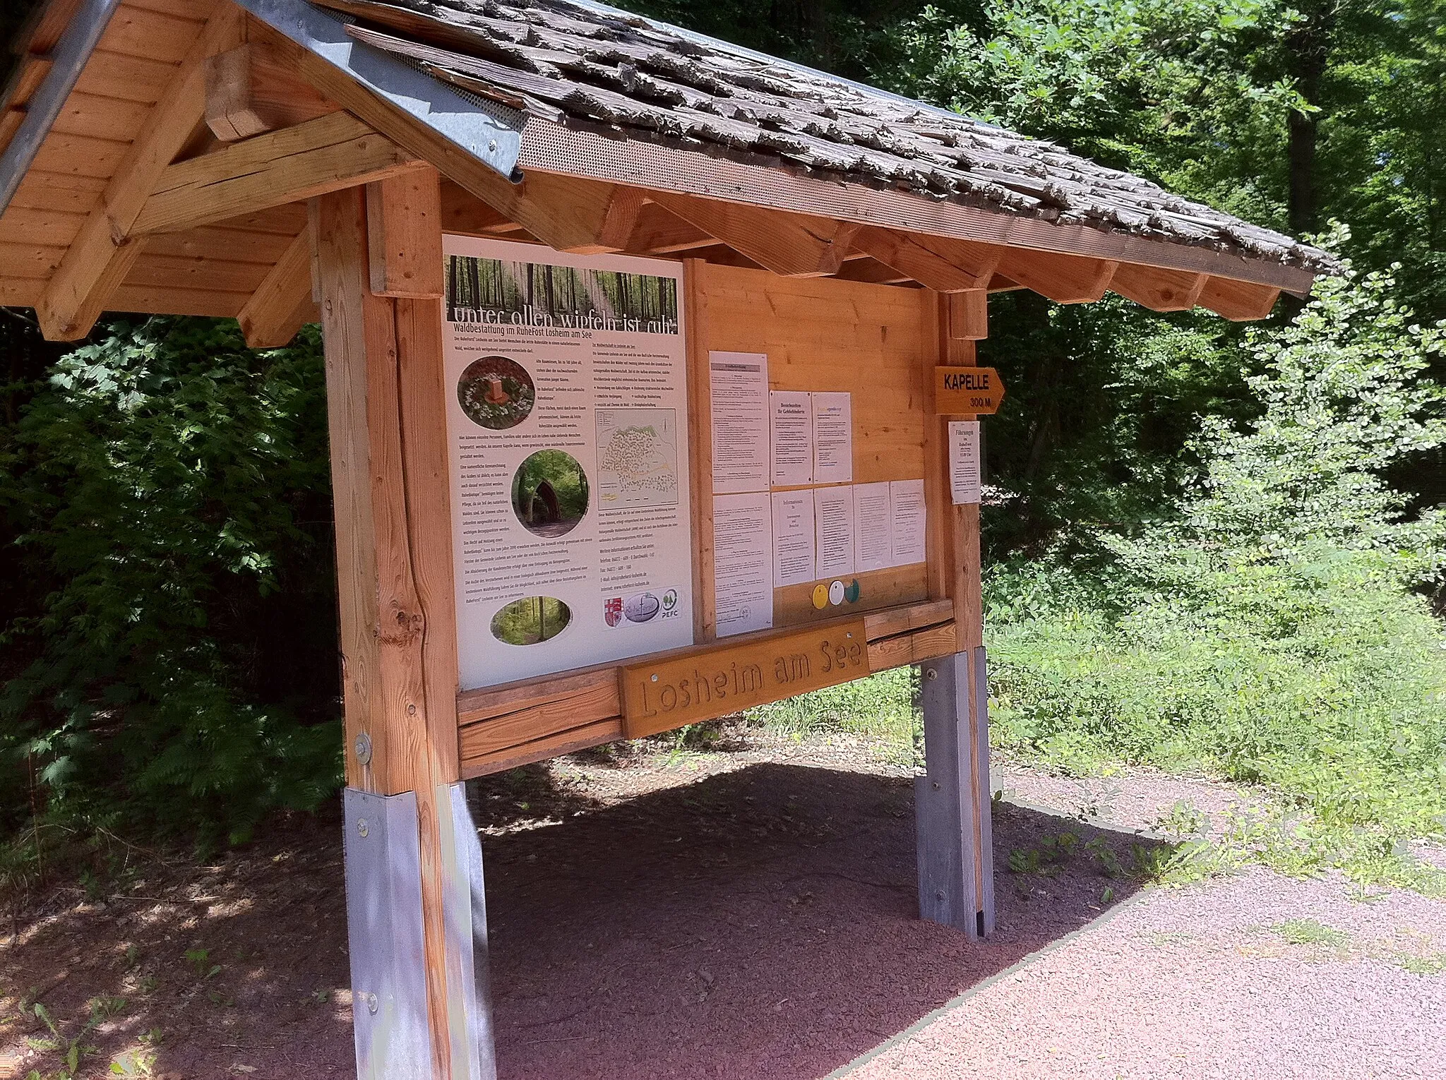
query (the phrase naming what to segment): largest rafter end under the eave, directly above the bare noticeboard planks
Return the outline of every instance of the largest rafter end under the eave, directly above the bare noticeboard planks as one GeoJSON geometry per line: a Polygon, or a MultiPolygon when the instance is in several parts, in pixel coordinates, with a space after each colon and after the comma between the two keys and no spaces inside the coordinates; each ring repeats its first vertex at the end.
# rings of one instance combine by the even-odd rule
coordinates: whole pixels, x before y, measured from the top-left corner
{"type": "Polygon", "coordinates": [[[837,273],[859,226],[823,217],[785,214],[737,202],[649,192],[649,198],[717,237],[759,266],[785,278],[837,273]]]}

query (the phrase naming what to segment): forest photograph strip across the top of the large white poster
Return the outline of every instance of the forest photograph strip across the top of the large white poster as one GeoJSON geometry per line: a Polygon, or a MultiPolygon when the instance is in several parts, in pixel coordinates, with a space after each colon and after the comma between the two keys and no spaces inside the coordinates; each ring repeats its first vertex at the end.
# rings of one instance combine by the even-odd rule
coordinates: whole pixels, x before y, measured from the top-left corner
{"type": "Polygon", "coordinates": [[[678,333],[678,282],[510,259],[447,256],[447,320],[678,333]]]}

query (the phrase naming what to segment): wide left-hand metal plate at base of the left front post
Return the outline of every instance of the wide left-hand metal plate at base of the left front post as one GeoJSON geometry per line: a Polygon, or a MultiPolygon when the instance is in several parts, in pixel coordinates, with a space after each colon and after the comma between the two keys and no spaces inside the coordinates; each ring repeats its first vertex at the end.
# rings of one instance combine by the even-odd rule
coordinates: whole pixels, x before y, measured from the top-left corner
{"type": "Polygon", "coordinates": [[[343,810],[357,1077],[425,1080],[432,1038],[416,795],[347,788],[343,810]]]}

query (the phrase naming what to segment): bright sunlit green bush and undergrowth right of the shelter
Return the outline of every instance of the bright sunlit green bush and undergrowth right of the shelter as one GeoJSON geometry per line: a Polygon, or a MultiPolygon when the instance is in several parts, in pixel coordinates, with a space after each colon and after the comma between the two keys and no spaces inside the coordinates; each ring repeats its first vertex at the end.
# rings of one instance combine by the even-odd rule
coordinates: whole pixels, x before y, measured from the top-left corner
{"type": "Polygon", "coordinates": [[[992,575],[1001,743],[1267,784],[1340,850],[1446,831],[1446,636],[1424,597],[1446,519],[1384,479],[1446,441],[1424,377],[1443,335],[1390,295],[1332,279],[1252,334],[1259,418],[1206,419],[1199,484],[1173,519],[1100,533],[1106,571],[992,575]]]}

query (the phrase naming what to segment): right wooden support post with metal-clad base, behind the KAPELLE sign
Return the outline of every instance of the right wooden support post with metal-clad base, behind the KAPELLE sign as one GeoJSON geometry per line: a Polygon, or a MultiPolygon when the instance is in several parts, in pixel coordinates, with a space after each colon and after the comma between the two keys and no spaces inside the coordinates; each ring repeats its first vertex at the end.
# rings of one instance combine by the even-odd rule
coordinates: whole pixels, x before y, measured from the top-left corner
{"type": "MultiPolygon", "coordinates": [[[[975,364],[985,312],[972,293],[957,296],[933,293],[924,304],[925,385],[937,364],[975,364]]],[[[914,785],[920,914],[982,937],[993,930],[993,853],[979,506],[951,503],[949,418],[933,415],[933,402],[927,408],[925,490],[931,519],[940,522],[930,526],[930,584],[953,601],[959,652],[921,665],[925,775],[914,785]]]]}

